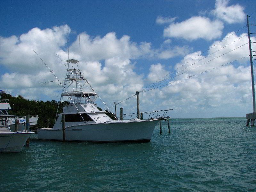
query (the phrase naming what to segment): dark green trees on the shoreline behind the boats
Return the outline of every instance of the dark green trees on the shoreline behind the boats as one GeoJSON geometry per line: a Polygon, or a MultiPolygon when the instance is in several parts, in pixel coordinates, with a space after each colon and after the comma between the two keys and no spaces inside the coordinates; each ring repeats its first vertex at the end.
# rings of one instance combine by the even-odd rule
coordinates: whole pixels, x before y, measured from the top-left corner
{"type": "MultiPolygon", "coordinates": [[[[46,127],[47,119],[50,119],[50,127],[55,123],[56,112],[58,109],[59,103],[55,100],[52,101],[39,101],[39,100],[28,100],[23,98],[21,95],[18,97],[13,97],[10,94],[3,94],[2,100],[9,100],[11,110],[8,110],[9,115],[16,116],[25,116],[29,115],[38,115],[38,121],[36,125],[30,127],[30,130],[37,130],[38,128],[46,127]]],[[[63,102],[64,105],[70,104],[67,101],[63,102]]],[[[101,108],[97,107],[100,111],[101,108]]],[[[104,110],[107,111],[107,110],[104,110]]],[[[108,112],[108,111],[107,111],[108,112]]],[[[62,102],[60,101],[60,107],[58,109],[58,114],[62,113],[62,102]]],[[[106,113],[109,117],[114,119],[114,116],[109,112],[106,113]]]]}

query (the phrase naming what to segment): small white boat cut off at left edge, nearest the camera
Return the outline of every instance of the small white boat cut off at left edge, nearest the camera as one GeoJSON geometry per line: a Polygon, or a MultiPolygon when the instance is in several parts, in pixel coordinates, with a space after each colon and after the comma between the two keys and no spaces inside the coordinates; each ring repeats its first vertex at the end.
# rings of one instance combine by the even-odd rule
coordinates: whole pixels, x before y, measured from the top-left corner
{"type": "Polygon", "coordinates": [[[0,115],[0,152],[20,152],[29,136],[34,132],[12,132],[8,118],[13,116],[0,115]]]}

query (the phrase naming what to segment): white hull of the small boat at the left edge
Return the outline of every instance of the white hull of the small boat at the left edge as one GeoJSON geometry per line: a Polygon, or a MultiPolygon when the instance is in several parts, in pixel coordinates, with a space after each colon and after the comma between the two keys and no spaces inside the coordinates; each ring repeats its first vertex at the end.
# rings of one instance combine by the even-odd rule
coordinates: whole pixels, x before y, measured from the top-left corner
{"type": "Polygon", "coordinates": [[[0,132],[0,152],[20,152],[34,132],[0,132]]]}

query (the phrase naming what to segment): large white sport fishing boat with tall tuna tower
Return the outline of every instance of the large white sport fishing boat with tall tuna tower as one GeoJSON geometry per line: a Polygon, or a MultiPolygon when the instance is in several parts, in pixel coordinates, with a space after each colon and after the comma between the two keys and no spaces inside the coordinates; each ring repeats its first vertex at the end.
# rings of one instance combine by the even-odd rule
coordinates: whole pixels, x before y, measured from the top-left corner
{"type": "MultiPolygon", "coordinates": [[[[106,111],[100,111],[97,108],[97,104],[94,103],[99,96],[82,75],[78,68],[79,61],[71,59],[66,62],[68,62],[67,74],[64,84],[61,84],[63,87],[61,94],[62,101],[64,100],[65,103],[63,97],[68,97],[68,101],[66,100],[67,105],[63,105],[62,113],[65,119],[66,140],[98,142],[149,142],[151,140],[152,133],[156,124],[159,122],[159,119],[149,118],[140,120],[137,116],[137,118],[135,117],[134,119],[123,120],[122,117],[121,119],[117,119],[113,113],[111,114],[115,119],[111,119],[106,115],[106,111]],[[71,64],[72,68],[70,69],[69,66],[71,66],[71,64]],[[73,65],[76,64],[77,69],[73,68],[73,65]],[[89,86],[85,86],[85,84],[88,84],[89,86]],[[84,87],[90,87],[91,90],[85,91],[84,87]],[[70,89],[71,91],[68,91],[70,89]]],[[[168,110],[163,111],[164,114],[166,114],[168,110]]],[[[38,139],[63,139],[62,114],[57,114],[56,122],[52,128],[42,128],[37,130],[38,139]]],[[[126,115],[126,118],[127,117],[128,116],[126,115]]]]}

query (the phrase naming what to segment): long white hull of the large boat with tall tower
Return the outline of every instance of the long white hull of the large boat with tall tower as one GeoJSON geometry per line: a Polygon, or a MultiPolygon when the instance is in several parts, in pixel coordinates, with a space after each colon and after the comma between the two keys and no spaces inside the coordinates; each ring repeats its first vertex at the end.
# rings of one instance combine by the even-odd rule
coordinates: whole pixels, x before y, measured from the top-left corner
{"type": "MultiPolygon", "coordinates": [[[[65,128],[65,138],[71,141],[136,141],[149,142],[157,119],[113,123],[78,124],[65,128]]],[[[62,129],[38,129],[38,139],[63,140],[62,129]]]]}

